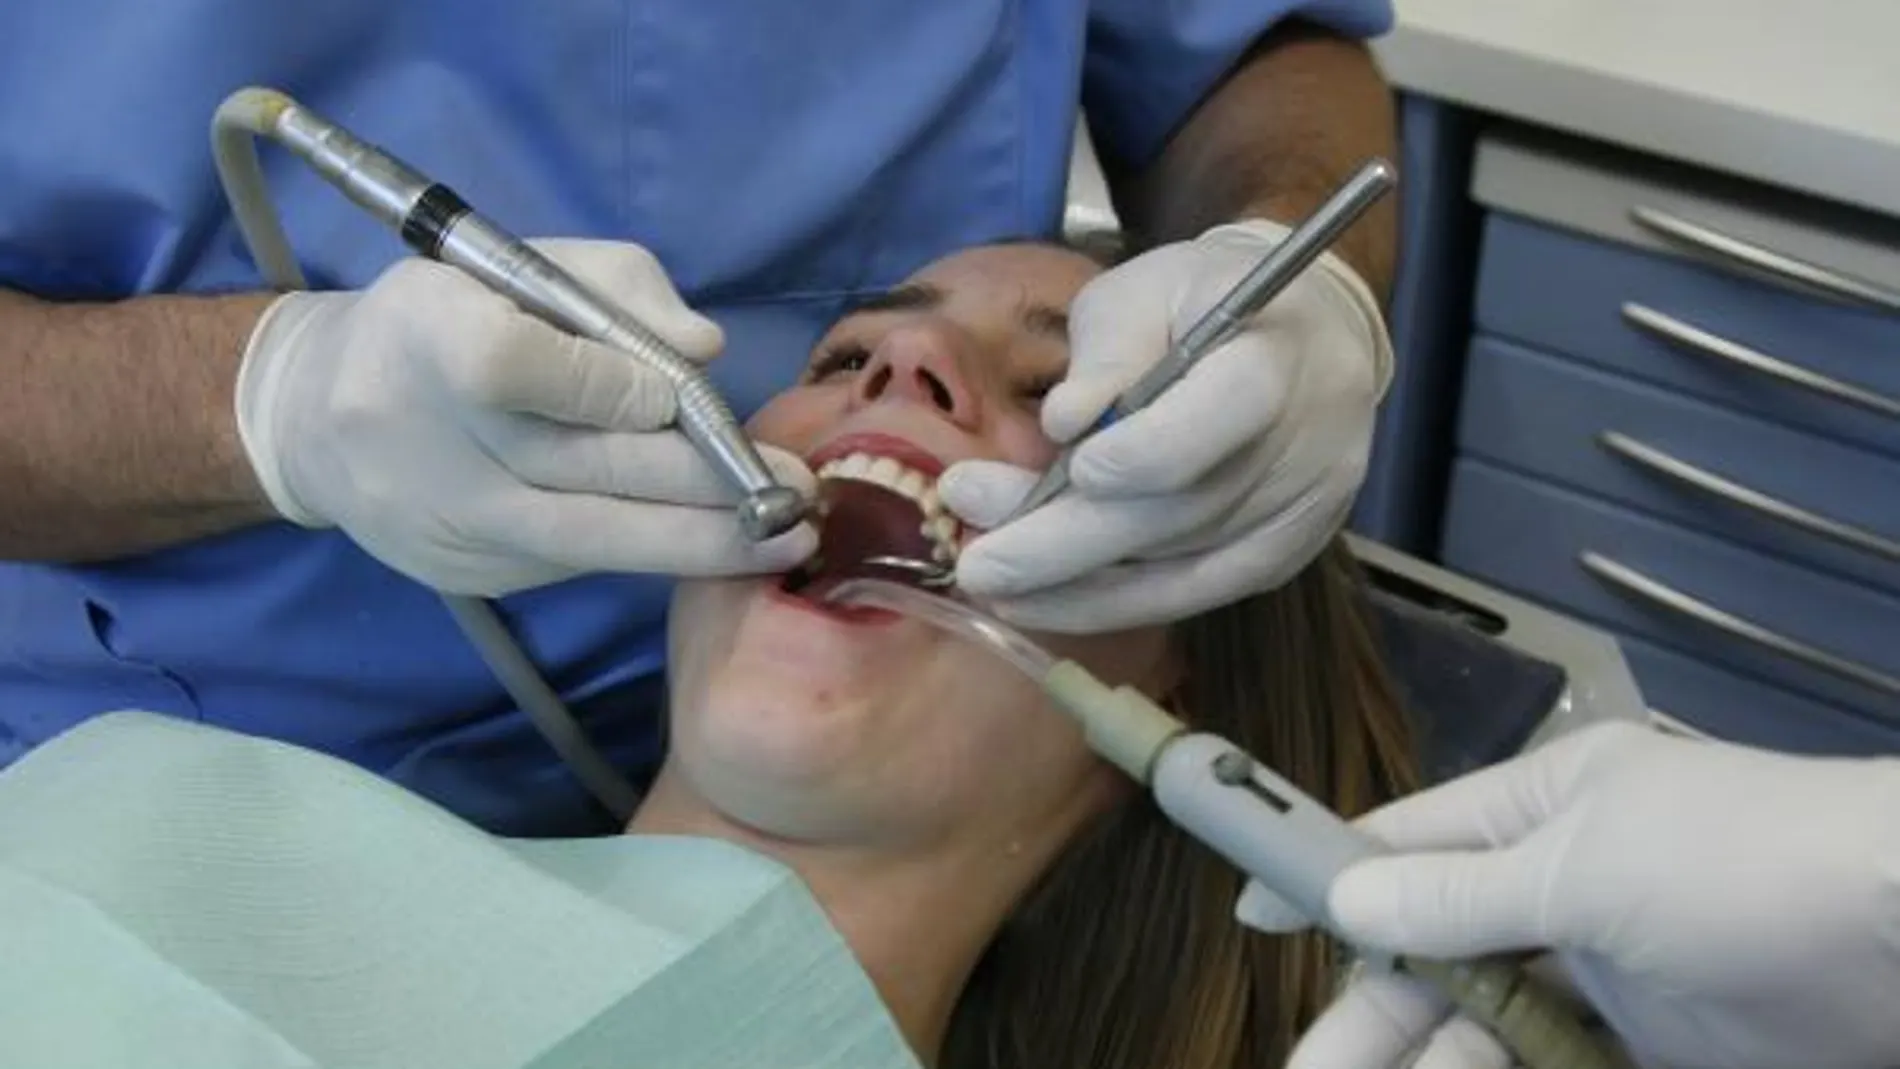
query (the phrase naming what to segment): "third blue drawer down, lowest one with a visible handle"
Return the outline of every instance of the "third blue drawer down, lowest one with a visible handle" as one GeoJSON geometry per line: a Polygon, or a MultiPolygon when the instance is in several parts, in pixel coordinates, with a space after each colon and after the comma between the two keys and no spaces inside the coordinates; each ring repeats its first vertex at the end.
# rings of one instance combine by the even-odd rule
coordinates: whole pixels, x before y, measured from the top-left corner
{"type": "Polygon", "coordinates": [[[1454,465],[1442,556],[1611,630],[1900,718],[1892,594],[1471,458],[1454,465]]]}

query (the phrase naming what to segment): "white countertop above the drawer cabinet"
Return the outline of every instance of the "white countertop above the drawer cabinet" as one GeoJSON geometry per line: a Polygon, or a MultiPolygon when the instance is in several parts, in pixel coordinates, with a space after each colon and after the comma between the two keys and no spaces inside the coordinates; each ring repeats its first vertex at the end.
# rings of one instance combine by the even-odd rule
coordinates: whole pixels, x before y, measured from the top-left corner
{"type": "Polygon", "coordinates": [[[1395,0],[1400,89],[1900,216],[1900,0],[1395,0]]]}

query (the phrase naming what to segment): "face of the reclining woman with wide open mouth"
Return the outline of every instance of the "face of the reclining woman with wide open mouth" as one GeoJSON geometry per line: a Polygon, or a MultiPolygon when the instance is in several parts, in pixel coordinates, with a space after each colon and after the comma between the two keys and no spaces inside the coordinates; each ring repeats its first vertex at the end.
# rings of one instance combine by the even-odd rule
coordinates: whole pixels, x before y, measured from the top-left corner
{"type": "MultiPolygon", "coordinates": [[[[838,547],[931,554],[967,539],[935,518],[950,463],[1049,465],[1039,399],[1068,365],[1064,309],[1098,270],[1054,247],[973,249],[832,327],[800,384],[750,422],[819,473],[828,568],[838,547]]],[[[1165,680],[1159,628],[1045,642],[1110,682],[1165,680]]],[[[673,771],[770,835],[1054,849],[1117,790],[1003,661],[925,623],[840,613],[781,577],[680,583],[669,665],[673,771]]]]}

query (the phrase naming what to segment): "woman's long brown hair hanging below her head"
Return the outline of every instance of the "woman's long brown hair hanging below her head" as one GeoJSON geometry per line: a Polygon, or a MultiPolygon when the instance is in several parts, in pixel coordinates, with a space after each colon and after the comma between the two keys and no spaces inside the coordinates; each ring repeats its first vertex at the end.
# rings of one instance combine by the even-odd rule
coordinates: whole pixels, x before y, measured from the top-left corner
{"type": "MultiPolygon", "coordinates": [[[[1176,716],[1358,815],[1410,792],[1410,729],[1343,543],[1284,587],[1184,621],[1176,716]]],[[[1233,921],[1239,873],[1146,796],[1110,813],[1003,925],[963,989],[942,1069],[1281,1065],[1334,991],[1317,934],[1233,921]]]]}

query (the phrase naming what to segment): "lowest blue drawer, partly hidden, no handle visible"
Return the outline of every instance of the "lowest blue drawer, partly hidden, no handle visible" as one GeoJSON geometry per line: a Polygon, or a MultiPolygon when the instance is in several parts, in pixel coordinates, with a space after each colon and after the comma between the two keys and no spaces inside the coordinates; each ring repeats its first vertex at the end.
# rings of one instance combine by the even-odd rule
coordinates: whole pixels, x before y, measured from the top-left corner
{"type": "Polygon", "coordinates": [[[1900,723],[1771,687],[1642,638],[1613,638],[1644,701],[1697,731],[1792,754],[1900,754],[1900,723]]]}

